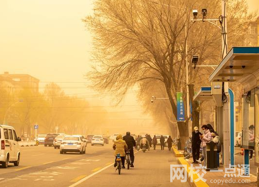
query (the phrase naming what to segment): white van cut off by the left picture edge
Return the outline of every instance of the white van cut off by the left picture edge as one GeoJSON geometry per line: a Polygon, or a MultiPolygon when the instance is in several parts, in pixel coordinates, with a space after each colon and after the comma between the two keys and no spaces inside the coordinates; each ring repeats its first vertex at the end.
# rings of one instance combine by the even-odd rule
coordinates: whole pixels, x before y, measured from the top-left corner
{"type": "Polygon", "coordinates": [[[20,147],[14,127],[8,125],[0,125],[0,164],[3,168],[8,167],[8,163],[14,163],[19,166],[20,163],[20,147]]]}

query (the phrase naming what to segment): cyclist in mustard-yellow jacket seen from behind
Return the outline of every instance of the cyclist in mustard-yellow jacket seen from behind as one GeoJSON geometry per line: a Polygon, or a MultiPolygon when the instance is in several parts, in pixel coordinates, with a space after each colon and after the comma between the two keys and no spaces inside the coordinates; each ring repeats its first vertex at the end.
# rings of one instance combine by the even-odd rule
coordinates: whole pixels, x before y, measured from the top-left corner
{"type": "Polygon", "coordinates": [[[122,168],[125,168],[124,164],[125,164],[125,149],[127,149],[128,146],[126,144],[126,142],[122,139],[122,135],[119,134],[117,137],[116,137],[116,141],[114,141],[114,144],[113,144],[113,149],[115,150],[114,152],[114,156],[115,156],[115,164],[114,164],[114,167],[117,166],[117,162],[116,162],[116,159],[117,159],[117,154],[120,154],[120,158],[121,158],[121,162],[122,162],[122,168]]]}

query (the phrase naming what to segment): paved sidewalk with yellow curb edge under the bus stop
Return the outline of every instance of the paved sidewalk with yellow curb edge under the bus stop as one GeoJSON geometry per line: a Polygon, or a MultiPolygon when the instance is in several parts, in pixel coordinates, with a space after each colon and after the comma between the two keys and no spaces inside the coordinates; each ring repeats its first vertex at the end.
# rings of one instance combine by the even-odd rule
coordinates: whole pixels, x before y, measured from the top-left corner
{"type": "MultiPolygon", "coordinates": [[[[181,151],[179,151],[181,152],[181,151]]],[[[232,168],[231,173],[226,173],[223,166],[219,166],[218,171],[205,171],[199,168],[199,164],[193,164],[191,167],[192,159],[178,158],[180,165],[187,165],[187,178],[191,187],[257,187],[257,177],[250,174],[250,177],[242,177],[242,171],[238,168],[232,168]],[[198,168],[197,168],[198,167],[198,168]],[[225,177],[224,177],[225,175],[225,177]],[[190,176],[193,176],[192,179],[190,176]],[[200,180],[205,179],[204,181],[200,180]],[[193,182],[192,182],[193,181],[193,182]]],[[[230,172],[230,170],[227,170],[230,172]]]]}

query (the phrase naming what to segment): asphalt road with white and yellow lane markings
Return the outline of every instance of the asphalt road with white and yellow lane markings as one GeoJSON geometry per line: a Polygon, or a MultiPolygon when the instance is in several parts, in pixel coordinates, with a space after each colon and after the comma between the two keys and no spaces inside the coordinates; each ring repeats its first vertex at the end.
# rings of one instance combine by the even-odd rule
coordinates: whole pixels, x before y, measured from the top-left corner
{"type": "Polygon", "coordinates": [[[112,144],[91,146],[86,154],[60,154],[54,147],[21,147],[20,166],[0,168],[0,187],[189,187],[179,180],[170,183],[170,164],[178,164],[168,150],[139,151],[135,167],[113,167],[112,144]]]}

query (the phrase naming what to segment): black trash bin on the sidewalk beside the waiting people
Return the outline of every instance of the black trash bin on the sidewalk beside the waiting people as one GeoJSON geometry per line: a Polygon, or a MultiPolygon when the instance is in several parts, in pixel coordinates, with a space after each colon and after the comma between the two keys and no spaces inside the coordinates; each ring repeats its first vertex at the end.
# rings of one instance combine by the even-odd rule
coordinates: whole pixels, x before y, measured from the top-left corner
{"type": "Polygon", "coordinates": [[[209,169],[218,169],[217,162],[217,143],[209,142],[206,144],[206,152],[207,152],[207,168],[209,169]]]}

